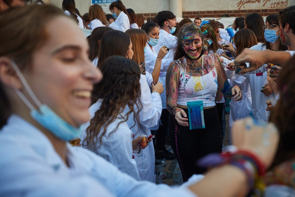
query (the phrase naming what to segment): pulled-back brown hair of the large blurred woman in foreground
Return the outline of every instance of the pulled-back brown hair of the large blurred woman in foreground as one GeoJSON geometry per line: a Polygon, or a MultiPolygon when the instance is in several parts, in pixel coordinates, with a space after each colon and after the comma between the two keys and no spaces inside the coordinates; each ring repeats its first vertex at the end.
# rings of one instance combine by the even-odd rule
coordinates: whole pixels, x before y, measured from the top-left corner
{"type": "MultiPolygon", "coordinates": [[[[34,52],[49,38],[46,24],[59,16],[68,17],[52,5],[15,7],[1,13],[0,57],[13,59],[20,70],[30,67],[34,52]]],[[[0,128],[10,113],[9,99],[0,82],[0,128]]]]}

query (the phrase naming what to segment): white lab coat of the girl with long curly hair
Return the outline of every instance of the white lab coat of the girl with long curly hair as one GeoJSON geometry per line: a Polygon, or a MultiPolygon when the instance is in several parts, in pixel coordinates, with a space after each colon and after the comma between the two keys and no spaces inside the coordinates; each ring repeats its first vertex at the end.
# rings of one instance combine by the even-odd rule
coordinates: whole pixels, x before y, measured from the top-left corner
{"type": "MultiPolygon", "coordinates": [[[[94,113],[97,110],[99,110],[102,101],[103,99],[99,99],[89,108],[91,118],[93,118],[94,113]]],[[[96,144],[94,144],[96,150],[91,151],[100,155],[101,157],[104,157],[107,161],[117,166],[119,170],[121,170],[122,172],[125,172],[126,174],[132,176],[136,180],[140,180],[139,173],[137,170],[137,164],[135,160],[132,159],[132,131],[130,131],[126,122],[121,123],[117,128],[119,122],[124,120],[124,116],[125,114],[122,112],[118,115],[114,122],[109,124],[106,133],[101,139],[100,144],[99,136],[102,133],[104,127],[101,128],[100,134],[97,137],[97,142],[96,144]],[[99,145],[101,146],[99,147],[99,145]]],[[[80,136],[81,141],[83,141],[86,138],[86,128],[89,125],[89,122],[83,125],[84,131],[83,133],[81,133],[80,136]]]]}

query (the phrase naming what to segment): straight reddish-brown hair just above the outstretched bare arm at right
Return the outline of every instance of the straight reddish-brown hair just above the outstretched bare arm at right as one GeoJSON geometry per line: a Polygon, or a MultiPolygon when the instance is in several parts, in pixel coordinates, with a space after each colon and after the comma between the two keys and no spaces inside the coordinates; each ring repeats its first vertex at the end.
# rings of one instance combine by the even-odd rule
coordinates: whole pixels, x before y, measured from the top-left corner
{"type": "Polygon", "coordinates": [[[254,32],[250,29],[241,29],[237,31],[234,36],[234,40],[237,48],[235,57],[240,55],[244,48],[250,48],[258,44],[254,32]]]}

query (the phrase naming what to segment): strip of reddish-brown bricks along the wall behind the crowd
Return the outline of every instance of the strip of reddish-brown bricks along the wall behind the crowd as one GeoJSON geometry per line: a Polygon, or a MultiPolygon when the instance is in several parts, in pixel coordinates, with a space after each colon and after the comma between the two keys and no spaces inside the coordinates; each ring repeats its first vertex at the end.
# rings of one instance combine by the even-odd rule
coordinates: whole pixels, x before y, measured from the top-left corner
{"type": "MultiPolygon", "coordinates": [[[[246,14],[251,14],[253,12],[257,12],[261,16],[268,16],[269,14],[278,14],[278,11],[282,10],[283,8],[279,9],[248,9],[248,10],[209,10],[209,11],[194,11],[194,12],[182,12],[183,18],[218,18],[221,17],[223,14],[228,14],[230,17],[243,17],[246,14]]],[[[141,14],[145,20],[150,17],[155,17],[157,13],[144,13],[141,14]]]]}

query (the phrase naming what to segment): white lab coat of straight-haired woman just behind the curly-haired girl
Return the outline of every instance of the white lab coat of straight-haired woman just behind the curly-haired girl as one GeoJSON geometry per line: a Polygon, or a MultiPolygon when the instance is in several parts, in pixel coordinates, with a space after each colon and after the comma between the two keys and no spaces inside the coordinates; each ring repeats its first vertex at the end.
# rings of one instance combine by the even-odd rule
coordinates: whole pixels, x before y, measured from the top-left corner
{"type": "MultiPolygon", "coordinates": [[[[139,113],[140,128],[138,128],[137,124],[132,127],[134,125],[133,113],[130,114],[127,120],[129,128],[132,127],[130,129],[135,135],[134,138],[140,135],[151,135],[150,127],[157,125],[162,113],[161,97],[159,93],[156,92],[150,94],[150,88],[144,75],[140,75],[140,88],[140,100],[142,103],[142,110],[139,113]]],[[[126,113],[128,110],[129,108],[126,107],[124,112],[126,113]]],[[[138,110],[135,109],[135,111],[138,110]]],[[[139,154],[134,154],[134,159],[137,163],[140,179],[155,183],[155,150],[153,142],[150,142],[148,147],[142,149],[139,154]]]]}

